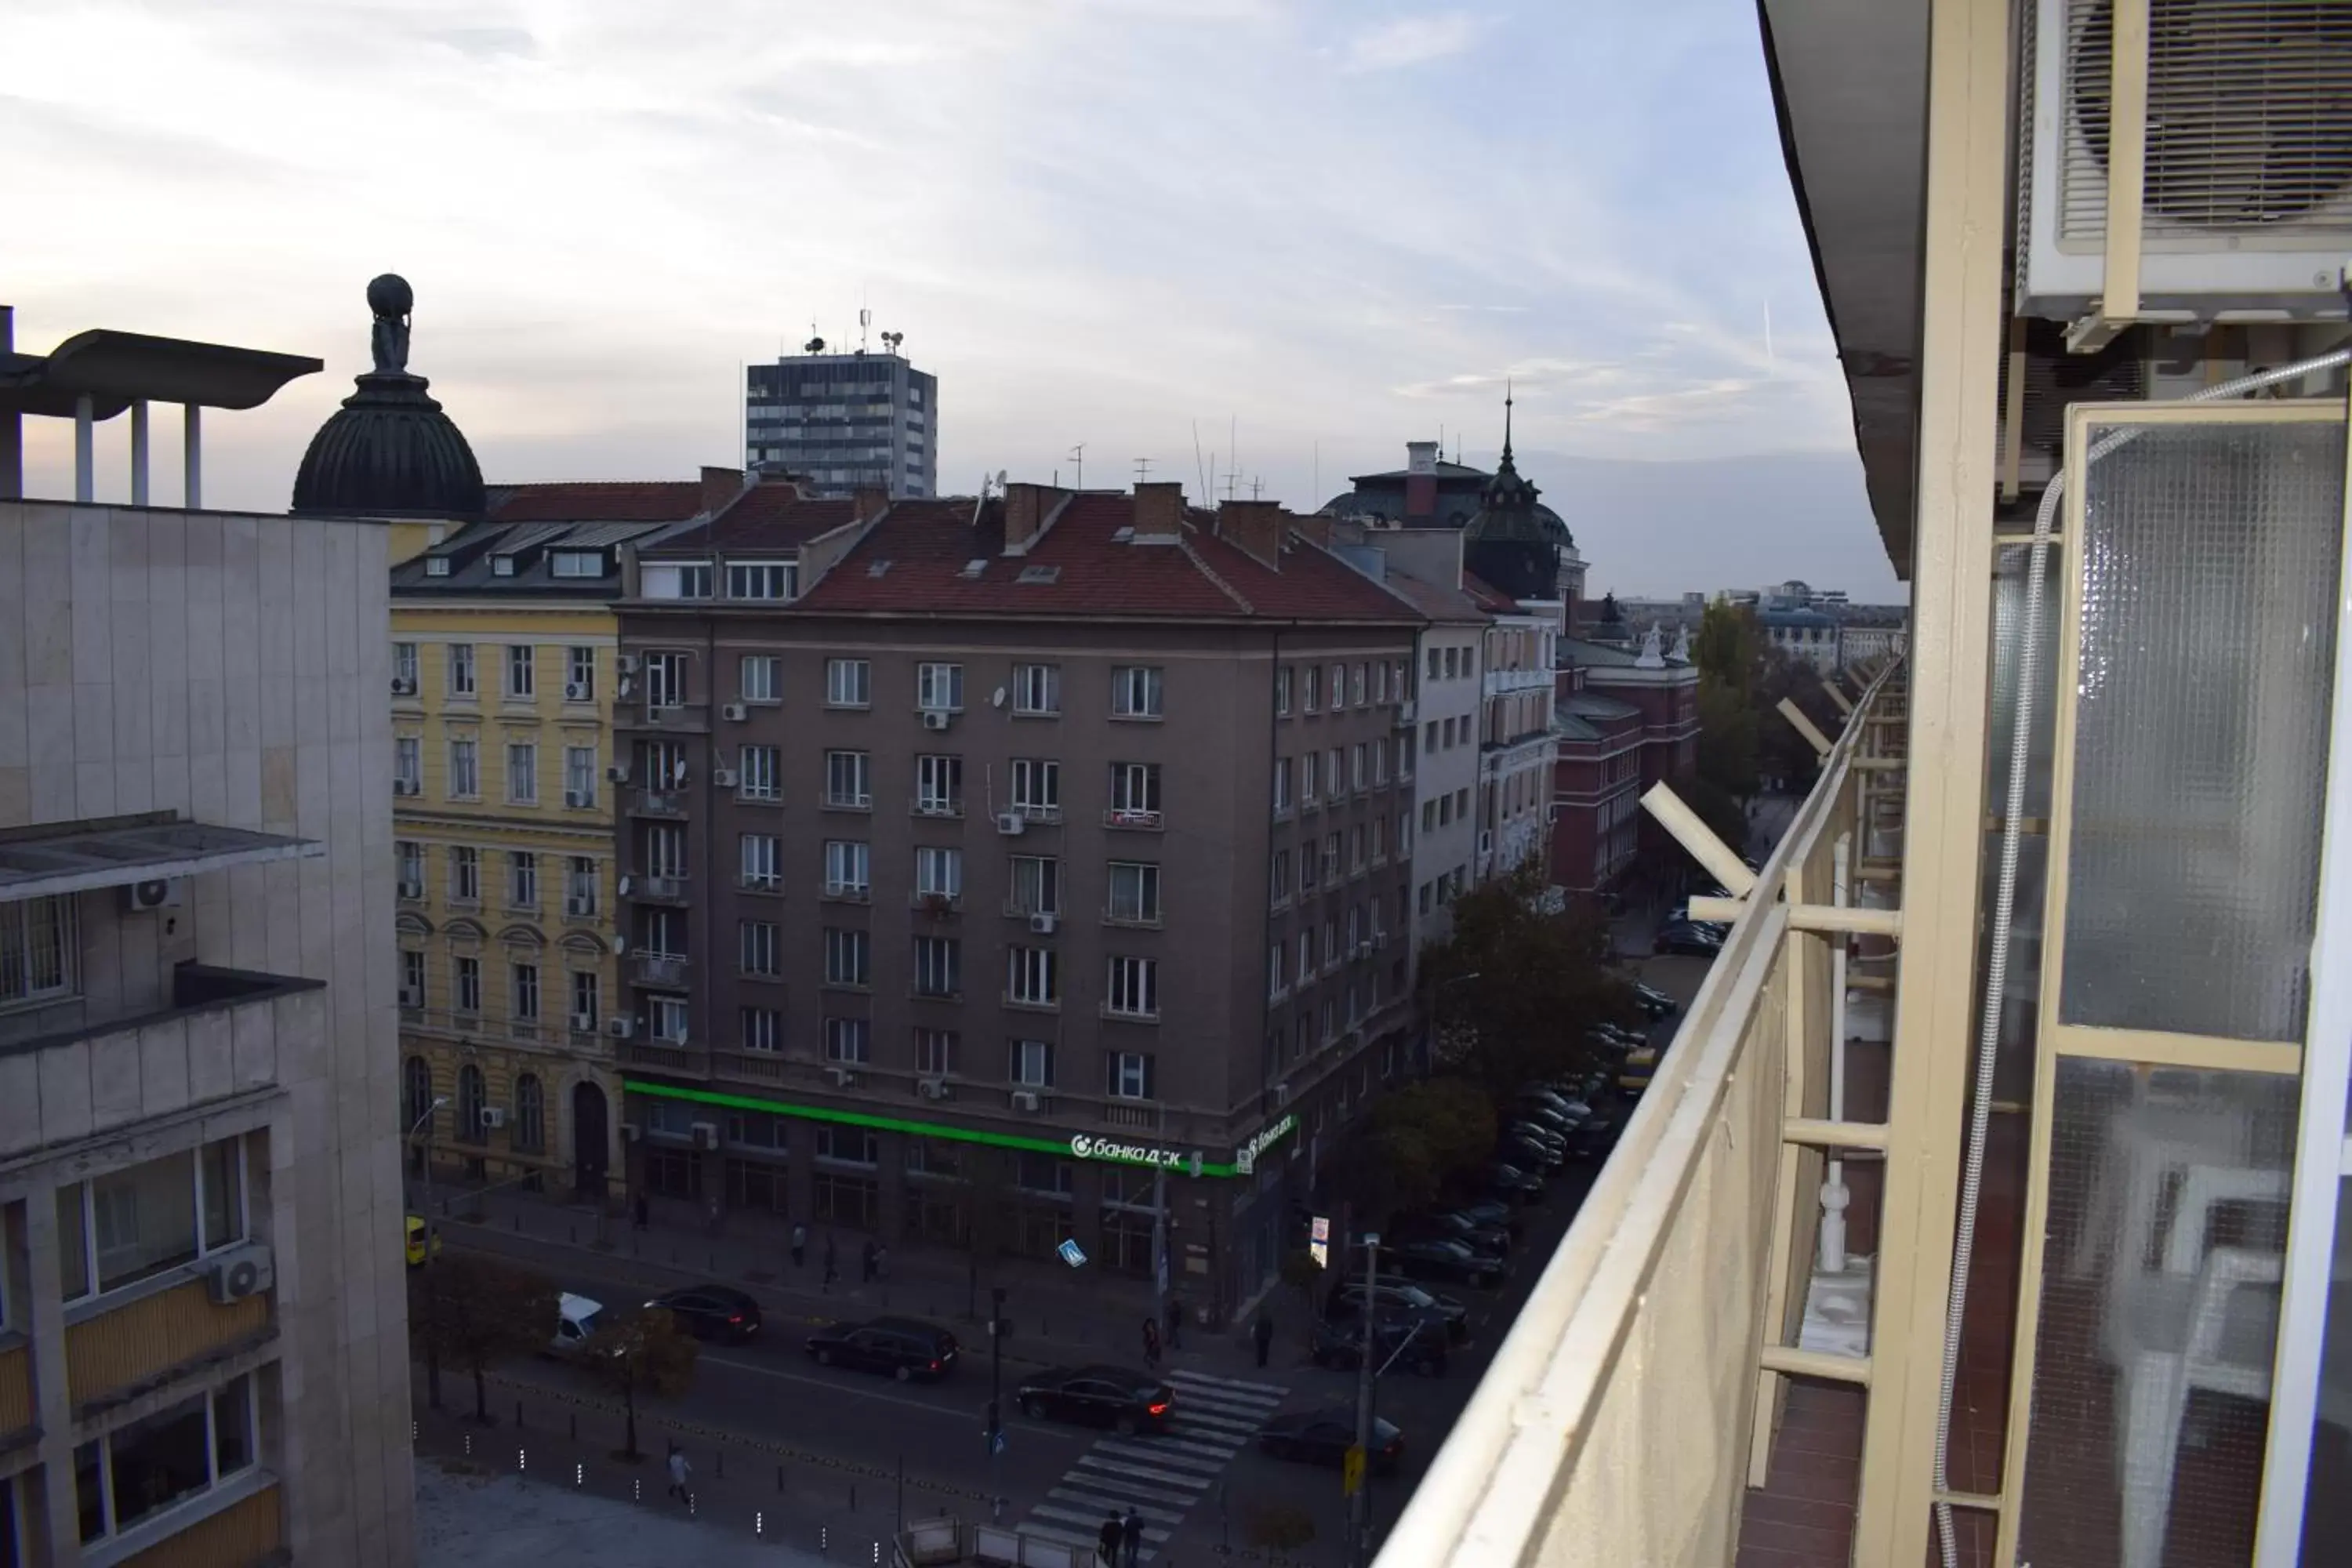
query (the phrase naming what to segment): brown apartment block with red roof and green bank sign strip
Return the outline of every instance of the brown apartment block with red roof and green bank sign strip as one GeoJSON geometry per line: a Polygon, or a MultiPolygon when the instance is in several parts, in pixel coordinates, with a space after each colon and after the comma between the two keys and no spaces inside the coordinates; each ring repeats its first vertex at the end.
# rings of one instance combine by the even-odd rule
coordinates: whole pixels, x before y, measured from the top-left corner
{"type": "Polygon", "coordinates": [[[1414,639],[1327,520],[760,484],[621,602],[630,1180],[1232,1309],[1402,1067],[1414,639]],[[981,1154],[993,1150],[990,1154],[981,1154]]]}

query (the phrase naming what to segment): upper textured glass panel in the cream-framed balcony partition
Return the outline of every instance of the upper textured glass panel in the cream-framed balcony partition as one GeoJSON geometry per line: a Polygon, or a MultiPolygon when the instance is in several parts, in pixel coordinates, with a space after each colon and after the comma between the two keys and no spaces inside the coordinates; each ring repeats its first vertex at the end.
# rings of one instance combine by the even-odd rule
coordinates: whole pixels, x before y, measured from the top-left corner
{"type": "Polygon", "coordinates": [[[2091,465],[2065,1023],[2300,1039],[2343,475],[2343,425],[2091,465]]]}

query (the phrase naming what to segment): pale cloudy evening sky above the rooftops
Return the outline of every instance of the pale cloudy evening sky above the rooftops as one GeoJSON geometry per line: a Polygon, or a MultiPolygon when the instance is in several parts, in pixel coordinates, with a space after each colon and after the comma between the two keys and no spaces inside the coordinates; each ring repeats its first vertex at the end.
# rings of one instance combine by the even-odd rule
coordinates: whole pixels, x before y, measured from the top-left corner
{"type": "Polygon", "coordinates": [[[739,463],[743,364],[866,308],[946,491],[1084,444],[1310,510],[1406,440],[1491,465],[1508,386],[1592,592],[1900,597],[1752,0],[9,0],[0,59],[19,350],[327,362],[207,421],[209,505],[285,508],[395,270],[492,482],[739,463]]]}

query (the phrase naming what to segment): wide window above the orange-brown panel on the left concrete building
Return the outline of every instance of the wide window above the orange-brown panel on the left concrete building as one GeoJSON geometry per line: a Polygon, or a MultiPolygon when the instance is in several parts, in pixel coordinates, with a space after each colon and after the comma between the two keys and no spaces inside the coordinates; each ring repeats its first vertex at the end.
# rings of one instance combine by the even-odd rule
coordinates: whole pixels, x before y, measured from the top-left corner
{"type": "Polygon", "coordinates": [[[59,1288],[68,1302],[120,1291],[242,1239],[242,1138],[56,1190],[59,1288]]]}

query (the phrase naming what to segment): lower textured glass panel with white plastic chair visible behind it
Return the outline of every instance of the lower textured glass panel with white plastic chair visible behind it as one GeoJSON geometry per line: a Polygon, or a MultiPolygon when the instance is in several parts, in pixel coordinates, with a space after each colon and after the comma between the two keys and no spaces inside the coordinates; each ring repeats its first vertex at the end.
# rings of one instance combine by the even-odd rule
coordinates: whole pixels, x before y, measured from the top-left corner
{"type": "Polygon", "coordinates": [[[2018,1559],[2253,1556],[2296,1081],[2063,1058],[2018,1559]]]}

